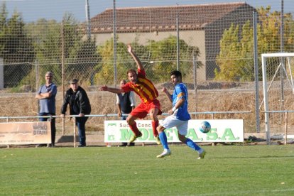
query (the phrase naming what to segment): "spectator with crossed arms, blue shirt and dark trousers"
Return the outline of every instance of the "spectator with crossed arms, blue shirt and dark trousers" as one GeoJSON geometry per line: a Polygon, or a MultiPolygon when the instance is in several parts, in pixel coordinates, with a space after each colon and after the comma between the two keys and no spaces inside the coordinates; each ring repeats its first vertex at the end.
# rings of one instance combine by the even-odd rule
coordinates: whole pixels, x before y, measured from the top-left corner
{"type": "MultiPolygon", "coordinates": [[[[57,94],[57,87],[52,82],[53,73],[46,72],[45,73],[45,85],[40,86],[36,94],[36,99],[39,101],[39,114],[38,116],[55,116],[55,97],[57,94]]],[[[40,121],[50,121],[51,124],[51,147],[55,146],[55,118],[40,118],[40,121]]],[[[40,144],[36,147],[41,146],[40,144]]]]}

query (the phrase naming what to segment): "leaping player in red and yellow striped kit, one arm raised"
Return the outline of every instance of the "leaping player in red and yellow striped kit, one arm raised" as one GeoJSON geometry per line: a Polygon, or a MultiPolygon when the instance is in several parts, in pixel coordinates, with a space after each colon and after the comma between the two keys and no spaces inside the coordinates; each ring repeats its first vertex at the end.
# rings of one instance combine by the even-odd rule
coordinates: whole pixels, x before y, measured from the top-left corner
{"type": "Polygon", "coordinates": [[[162,114],[160,110],[160,102],[158,99],[158,91],[153,83],[146,78],[146,72],[143,68],[141,61],[138,59],[136,54],[131,48],[131,45],[128,45],[128,52],[134,58],[136,65],[138,67],[138,74],[136,70],[128,70],[127,75],[130,82],[122,86],[120,89],[111,88],[103,86],[100,88],[102,91],[109,91],[114,93],[129,92],[134,91],[141,99],[141,103],[131,111],[128,118],[126,119],[131,131],[133,131],[134,136],[129,142],[133,142],[136,138],[141,137],[142,133],[138,130],[136,125],[136,119],[143,119],[150,114],[152,120],[152,129],[153,135],[156,138],[156,143],[160,144],[160,139],[158,138],[158,131],[156,127],[158,126],[158,117],[157,115],[162,114]]]}

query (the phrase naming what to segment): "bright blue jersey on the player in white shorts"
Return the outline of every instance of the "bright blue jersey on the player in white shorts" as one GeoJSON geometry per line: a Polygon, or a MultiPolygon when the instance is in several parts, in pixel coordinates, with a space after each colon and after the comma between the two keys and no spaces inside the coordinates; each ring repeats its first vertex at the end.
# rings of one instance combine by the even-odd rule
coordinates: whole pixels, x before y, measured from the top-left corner
{"type": "Polygon", "coordinates": [[[175,116],[177,119],[181,121],[187,121],[190,120],[190,114],[187,111],[187,87],[183,83],[179,83],[175,85],[175,90],[173,91],[173,107],[175,106],[175,103],[178,102],[179,99],[185,99],[184,104],[180,106],[176,111],[175,111],[175,116]]]}

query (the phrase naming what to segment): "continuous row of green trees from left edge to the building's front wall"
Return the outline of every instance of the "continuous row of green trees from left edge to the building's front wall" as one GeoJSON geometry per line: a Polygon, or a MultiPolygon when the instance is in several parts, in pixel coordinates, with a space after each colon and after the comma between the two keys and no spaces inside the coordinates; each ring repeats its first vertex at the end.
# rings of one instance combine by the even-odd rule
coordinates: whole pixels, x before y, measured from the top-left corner
{"type": "MultiPolygon", "coordinates": [[[[95,45],[95,40],[85,38],[82,25],[69,13],[65,13],[62,24],[45,19],[24,23],[20,13],[15,12],[9,18],[6,6],[2,4],[0,16],[0,57],[4,58],[4,64],[7,65],[4,67],[6,87],[9,84],[34,86],[36,66],[39,67],[39,82],[44,82],[44,73],[52,70],[55,82],[61,84],[62,58],[65,62],[65,80],[78,77],[89,85],[99,82],[113,84],[113,39],[107,40],[104,45],[95,45]]],[[[138,56],[142,57],[152,80],[169,80],[165,73],[177,65],[175,36],[158,42],[150,40],[148,45],[139,45],[134,40],[132,45],[138,56]],[[150,59],[156,63],[148,63],[150,59]]],[[[192,54],[199,55],[198,48],[187,45],[185,41],[180,40],[180,45],[181,58],[192,59],[192,54]]],[[[117,80],[125,79],[126,70],[135,68],[134,60],[127,53],[124,43],[117,43],[116,54],[117,80]]],[[[181,62],[180,67],[183,67],[184,75],[190,72],[187,62],[181,62]]]]}

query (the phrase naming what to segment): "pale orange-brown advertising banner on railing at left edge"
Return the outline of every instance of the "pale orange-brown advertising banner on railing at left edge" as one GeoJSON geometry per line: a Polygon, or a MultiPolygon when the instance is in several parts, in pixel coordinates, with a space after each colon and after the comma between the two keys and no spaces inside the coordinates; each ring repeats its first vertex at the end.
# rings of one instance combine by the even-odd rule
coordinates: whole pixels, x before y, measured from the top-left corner
{"type": "Polygon", "coordinates": [[[0,145],[51,143],[50,121],[0,123],[0,145]]]}

